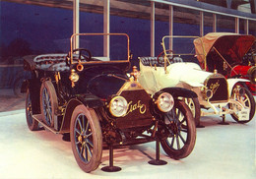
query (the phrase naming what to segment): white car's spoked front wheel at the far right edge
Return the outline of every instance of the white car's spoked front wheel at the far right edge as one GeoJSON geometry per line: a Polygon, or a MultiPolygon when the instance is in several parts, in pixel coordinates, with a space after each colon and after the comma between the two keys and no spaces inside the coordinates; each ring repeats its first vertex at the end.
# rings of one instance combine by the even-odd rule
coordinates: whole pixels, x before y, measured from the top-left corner
{"type": "Polygon", "coordinates": [[[251,94],[251,92],[248,89],[244,89],[244,94],[240,95],[239,93],[237,93],[235,90],[235,88],[232,90],[231,93],[231,99],[234,99],[236,101],[239,101],[240,103],[242,103],[245,108],[247,108],[247,110],[249,110],[249,116],[248,119],[239,119],[239,115],[238,115],[238,111],[239,111],[239,107],[235,104],[229,104],[229,108],[232,110],[235,110],[236,112],[231,114],[232,118],[237,122],[237,123],[247,123],[249,121],[252,120],[254,113],[255,113],[255,100],[253,98],[253,95],[251,94]]]}

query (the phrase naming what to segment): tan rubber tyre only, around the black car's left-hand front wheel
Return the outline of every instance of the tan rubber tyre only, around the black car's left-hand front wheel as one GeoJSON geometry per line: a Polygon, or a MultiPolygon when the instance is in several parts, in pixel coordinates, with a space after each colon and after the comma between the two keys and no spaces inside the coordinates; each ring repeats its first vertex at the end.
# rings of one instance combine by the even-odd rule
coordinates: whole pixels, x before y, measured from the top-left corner
{"type": "MultiPolygon", "coordinates": [[[[83,129],[85,129],[85,127],[83,129]]],[[[78,128],[77,128],[77,130],[78,130],[78,128]]],[[[98,118],[96,116],[96,112],[94,109],[87,108],[83,104],[78,105],[74,109],[72,117],[71,117],[71,124],[70,124],[70,139],[71,139],[71,147],[72,147],[74,156],[75,156],[76,161],[77,161],[78,165],[80,166],[80,168],[88,173],[96,170],[96,168],[98,167],[98,165],[100,163],[101,156],[102,156],[102,134],[101,134],[101,128],[99,125],[99,121],[98,121],[98,118]],[[80,156],[79,150],[78,150],[81,147],[79,147],[79,144],[76,145],[76,143],[79,141],[79,136],[76,136],[75,128],[79,124],[79,123],[77,123],[77,125],[76,125],[76,121],[80,115],[85,116],[85,120],[87,120],[89,122],[90,129],[93,133],[92,134],[93,139],[92,138],[89,139],[89,140],[91,140],[91,142],[94,145],[92,157],[89,159],[89,161],[83,160],[83,159],[85,159],[85,157],[84,157],[84,155],[80,156]],[[82,159],[82,157],[83,157],[83,159],[82,159]]],[[[84,139],[84,138],[82,138],[82,139],[84,139]]]]}

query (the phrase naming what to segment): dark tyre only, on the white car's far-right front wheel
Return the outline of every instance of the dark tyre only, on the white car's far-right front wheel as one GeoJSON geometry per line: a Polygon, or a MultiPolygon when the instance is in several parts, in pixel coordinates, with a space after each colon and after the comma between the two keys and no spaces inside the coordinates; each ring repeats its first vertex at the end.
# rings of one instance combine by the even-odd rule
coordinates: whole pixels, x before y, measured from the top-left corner
{"type": "MultiPolygon", "coordinates": [[[[233,90],[232,90],[231,96],[232,96],[232,94],[233,94],[233,90]]],[[[233,118],[233,120],[235,120],[237,123],[240,123],[240,124],[245,124],[245,123],[250,122],[252,120],[254,114],[255,114],[255,100],[253,98],[253,95],[251,94],[251,92],[248,89],[245,89],[245,94],[244,95],[250,101],[250,103],[248,104],[248,105],[250,105],[250,116],[249,116],[249,119],[246,120],[246,121],[239,121],[238,120],[238,116],[236,114],[230,114],[231,117],[233,118]]],[[[229,105],[229,108],[231,108],[231,105],[229,105]]]]}

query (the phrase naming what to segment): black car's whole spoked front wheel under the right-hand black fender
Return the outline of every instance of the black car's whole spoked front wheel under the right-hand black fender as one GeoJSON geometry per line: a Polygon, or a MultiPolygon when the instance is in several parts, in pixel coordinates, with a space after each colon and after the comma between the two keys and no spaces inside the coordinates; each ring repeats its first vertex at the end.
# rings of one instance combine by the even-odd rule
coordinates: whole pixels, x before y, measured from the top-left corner
{"type": "Polygon", "coordinates": [[[173,109],[164,115],[164,135],[160,145],[174,159],[188,156],[196,142],[196,126],[192,113],[184,101],[177,100],[173,109]]]}

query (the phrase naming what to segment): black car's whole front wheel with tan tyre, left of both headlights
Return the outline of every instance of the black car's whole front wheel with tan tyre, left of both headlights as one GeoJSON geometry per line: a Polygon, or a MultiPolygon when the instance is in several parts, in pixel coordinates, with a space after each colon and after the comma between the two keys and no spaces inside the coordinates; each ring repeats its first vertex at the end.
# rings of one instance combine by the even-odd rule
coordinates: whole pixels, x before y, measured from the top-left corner
{"type": "Polygon", "coordinates": [[[78,165],[85,172],[96,170],[102,155],[102,134],[95,110],[78,105],[70,128],[71,146],[78,165]]]}

